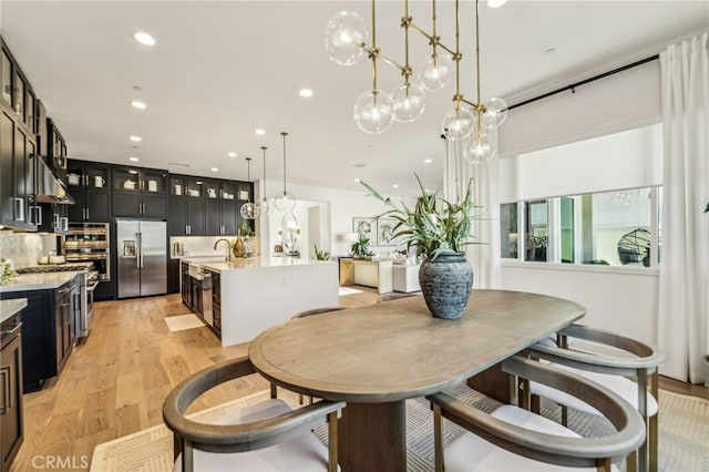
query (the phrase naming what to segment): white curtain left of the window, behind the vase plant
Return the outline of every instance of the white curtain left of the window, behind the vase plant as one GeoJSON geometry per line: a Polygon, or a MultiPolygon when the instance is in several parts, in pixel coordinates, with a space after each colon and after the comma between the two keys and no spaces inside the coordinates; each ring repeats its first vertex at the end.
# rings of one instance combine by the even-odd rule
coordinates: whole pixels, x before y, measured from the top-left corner
{"type": "Polygon", "coordinates": [[[465,253],[473,265],[474,288],[501,287],[500,258],[500,157],[473,165],[463,158],[462,143],[448,142],[443,193],[450,201],[465,194],[467,181],[473,179],[473,202],[480,218],[472,224],[475,236],[465,253]]]}

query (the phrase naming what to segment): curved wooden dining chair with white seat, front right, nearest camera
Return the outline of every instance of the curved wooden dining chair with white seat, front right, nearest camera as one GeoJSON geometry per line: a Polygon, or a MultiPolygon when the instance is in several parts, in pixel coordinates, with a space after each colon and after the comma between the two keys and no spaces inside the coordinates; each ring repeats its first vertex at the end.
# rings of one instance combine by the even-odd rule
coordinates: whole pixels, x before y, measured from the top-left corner
{"type": "Polygon", "coordinates": [[[603,438],[583,438],[574,431],[523,408],[504,404],[486,413],[445,392],[427,397],[433,409],[435,471],[617,471],[621,461],[645,440],[643,419],[628,402],[602,386],[533,359],[513,356],[502,362],[516,378],[548,384],[602,411],[616,432],[603,438]],[[443,448],[443,420],[466,431],[443,448]]]}

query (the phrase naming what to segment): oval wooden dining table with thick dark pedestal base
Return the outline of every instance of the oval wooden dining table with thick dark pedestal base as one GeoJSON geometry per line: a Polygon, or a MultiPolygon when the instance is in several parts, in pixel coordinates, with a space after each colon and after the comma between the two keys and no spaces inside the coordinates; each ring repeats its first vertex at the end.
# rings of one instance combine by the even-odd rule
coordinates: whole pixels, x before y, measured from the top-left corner
{"type": "Polygon", "coordinates": [[[256,337],[249,357],[278,386],[347,402],[342,471],[403,472],[405,399],[462,382],[584,315],[561,298],[475,289],[461,319],[444,320],[418,296],[290,320],[256,337]]]}

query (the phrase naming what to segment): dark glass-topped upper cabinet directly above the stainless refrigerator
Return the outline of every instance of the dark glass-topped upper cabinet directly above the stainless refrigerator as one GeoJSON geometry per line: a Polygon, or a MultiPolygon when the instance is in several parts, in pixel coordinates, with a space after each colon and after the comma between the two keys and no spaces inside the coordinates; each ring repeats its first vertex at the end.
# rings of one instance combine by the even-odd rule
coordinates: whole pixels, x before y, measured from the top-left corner
{"type": "Polygon", "coordinates": [[[113,167],[113,216],[167,217],[167,171],[113,167]]]}

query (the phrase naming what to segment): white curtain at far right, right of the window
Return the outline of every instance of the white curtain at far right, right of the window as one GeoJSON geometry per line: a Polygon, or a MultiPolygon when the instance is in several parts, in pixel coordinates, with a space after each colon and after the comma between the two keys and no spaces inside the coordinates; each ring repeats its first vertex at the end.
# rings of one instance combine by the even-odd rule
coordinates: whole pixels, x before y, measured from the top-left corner
{"type": "Polygon", "coordinates": [[[662,227],[658,337],[665,376],[698,383],[709,353],[708,33],[660,53],[662,227]]]}

